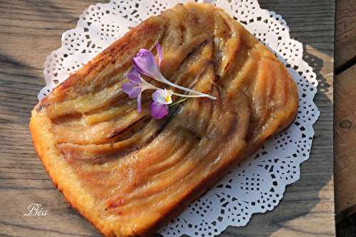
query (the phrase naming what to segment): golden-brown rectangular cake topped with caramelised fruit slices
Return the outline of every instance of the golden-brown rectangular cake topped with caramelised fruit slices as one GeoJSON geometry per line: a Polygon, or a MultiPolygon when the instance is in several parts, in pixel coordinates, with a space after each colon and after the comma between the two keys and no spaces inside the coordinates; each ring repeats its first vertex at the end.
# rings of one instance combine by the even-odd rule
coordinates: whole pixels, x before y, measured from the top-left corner
{"type": "Polygon", "coordinates": [[[147,236],[288,127],[297,107],[296,85],[268,48],[221,9],[187,4],[70,75],[33,109],[30,130],[73,208],[105,236],[147,236]],[[121,85],[137,51],[158,42],[166,78],[217,100],[187,100],[154,120],[143,94],[136,112],[121,85]]]}

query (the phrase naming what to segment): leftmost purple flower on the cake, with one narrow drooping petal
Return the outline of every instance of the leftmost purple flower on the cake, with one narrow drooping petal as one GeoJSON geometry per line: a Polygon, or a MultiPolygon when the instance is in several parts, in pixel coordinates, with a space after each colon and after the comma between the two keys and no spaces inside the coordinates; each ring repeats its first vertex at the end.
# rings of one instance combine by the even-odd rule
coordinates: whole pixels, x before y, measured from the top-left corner
{"type": "Polygon", "coordinates": [[[129,78],[129,82],[123,83],[121,88],[130,98],[137,98],[137,112],[141,112],[142,92],[147,89],[157,88],[143,80],[135,68],[132,68],[130,72],[127,73],[127,78],[129,78]]]}

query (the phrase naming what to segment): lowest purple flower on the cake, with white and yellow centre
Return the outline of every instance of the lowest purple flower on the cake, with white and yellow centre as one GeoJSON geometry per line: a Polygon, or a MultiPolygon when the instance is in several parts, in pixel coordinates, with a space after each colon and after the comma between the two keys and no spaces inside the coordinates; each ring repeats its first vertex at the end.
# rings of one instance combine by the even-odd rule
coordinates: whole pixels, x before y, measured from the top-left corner
{"type": "Polygon", "coordinates": [[[172,90],[156,90],[152,95],[153,102],[151,103],[150,110],[152,117],[155,119],[162,119],[168,115],[168,105],[172,104],[172,90]]]}

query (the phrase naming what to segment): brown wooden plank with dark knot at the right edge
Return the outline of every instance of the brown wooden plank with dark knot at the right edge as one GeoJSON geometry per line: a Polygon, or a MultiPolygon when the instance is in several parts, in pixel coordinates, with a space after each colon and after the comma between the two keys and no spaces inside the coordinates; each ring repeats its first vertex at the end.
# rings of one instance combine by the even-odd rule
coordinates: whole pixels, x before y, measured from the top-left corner
{"type": "Polygon", "coordinates": [[[335,209],[338,218],[356,212],[356,65],[335,80],[335,209]]]}

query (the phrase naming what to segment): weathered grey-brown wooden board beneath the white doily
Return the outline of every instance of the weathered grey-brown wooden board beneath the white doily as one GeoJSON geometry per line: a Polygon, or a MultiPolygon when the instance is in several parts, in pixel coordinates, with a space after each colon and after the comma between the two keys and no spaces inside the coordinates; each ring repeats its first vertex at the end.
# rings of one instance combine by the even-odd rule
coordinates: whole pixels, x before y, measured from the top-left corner
{"type": "MultiPolygon", "coordinates": [[[[42,65],[75,27],[80,13],[96,1],[0,1],[0,236],[100,236],[63,200],[33,150],[30,111],[43,87],[42,65]],[[46,216],[23,216],[29,204],[46,216]]],[[[305,46],[305,60],[320,82],[315,102],[311,157],[301,178],[288,186],[273,211],[256,214],[244,228],[222,236],[335,236],[333,184],[333,0],[261,0],[283,15],[291,36],[305,46]]],[[[349,125],[347,125],[349,126],[349,125]]]]}

